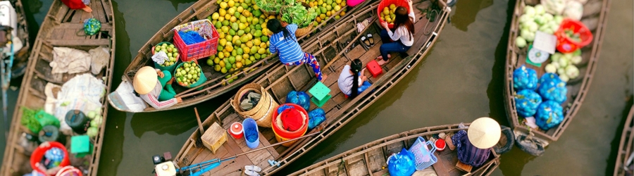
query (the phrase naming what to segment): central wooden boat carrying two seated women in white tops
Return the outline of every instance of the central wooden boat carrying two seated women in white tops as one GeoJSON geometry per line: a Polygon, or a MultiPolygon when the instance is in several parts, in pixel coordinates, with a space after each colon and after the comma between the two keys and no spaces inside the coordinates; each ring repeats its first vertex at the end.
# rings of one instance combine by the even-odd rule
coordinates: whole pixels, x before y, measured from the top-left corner
{"type": "MultiPolygon", "coordinates": [[[[235,158],[235,161],[220,163],[220,166],[205,174],[239,175],[244,165],[258,165],[263,168],[261,175],[272,175],[281,168],[284,168],[288,163],[297,160],[297,158],[304,155],[306,151],[313,149],[313,147],[322,142],[326,137],[329,137],[342,128],[347,122],[359,115],[361,111],[377,101],[388,90],[392,89],[404,75],[413,70],[418,63],[421,63],[423,57],[430,51],[430,47],[437,41],[438,35],[447,22],[449,11],[451,11],[445,4],[445,1],[435,1],[432,3],[431,1],[414,0],[414,6],[416,7],[414,13],[416,13],[417,18],[415,27],[418,29],[414,37],[417,42],[414,42],[414,46],[407,51],[409,56],[403,57],[399,56],[399,54],[393,54],[395,56],[392,56],[390,62],[383,66],[383,74],[378,75],[378,77],[372,77],[366,72],[366,76],[371,77],[370,80],[373,82],[373,85],[368,88],[368,90],[373,89],[373,91],[365,91],[359,94],[355,99],[347,99],[345,95],[341,93],[339,87],[337,87],[337,77],[340,75],[343,66],[349,64],[355,58],[360,58],[363,63],[368,63],[379,56],[381,42],[378,32],[380,28],[376,23],[376,9],[378,8],[378,4],[379,1],[374,1],[356,13],[350,13],[347,17],[341,18],[330,28],[330,33],[322,33],[318,34],[318,36],[311,37],[311,41],[308,41],[309,44],[302,47],[307,53],[313,54],[321,65],[324,65],[321,69],[324,74],[329,75],[323,80],[323,84],[330,88],[332,98],[321,107],[325,111],[327,120],[322,123],[323,130],[321,130],[319,134],[297,139],[294,144],[287,147],[275,144],[275,134],[273,134],[271,128],[259,127],[259,132],[261,133],[259,146],[271,146],[270,148],[267,147],[268,149],[266,150],[238,156],[235,158]],[[437,15],[435,15],[436,18],[431,23],[421,12],[421,9],[430,6],[438,7],[437,10],[434,10],[437,12],[437,15]],[[361,23],[368,18],[370,25],[363,27],[363,30],[358,32],[357,25],[354,24],[361,23]],[[373,33],[374,46],[371,46],[369,49],[363,48],[361,45],[353,46],[354,41],[360,39],[362,36],[366,36],[367,33],[373,33]],[[347,43],[348,41],[352,42],[347,43]],[[278,161],[279,165],[271,166],[268,160],[278,161]]],[[[264,75],[261,75],[261,77],[258,77],[254,82],[264,87],[264,90],[273,96],[276,102],[284,103],[290,91],[307,91],[316,84],[317,80],[313,75],[312,68],[306,64],[298,66],[278,65],[268,70],[264,75]]],[[[315,108],[316,105],[312,104],[310,110],[315,108]]],[[[226,101],[218,110],[214,111],[209,118],[206,118],[206,120],[202,122],[201,126],[203,129],[199,128],[199,130],[194,131],[192,136],[189,137],[185,145],[182,146],[182,149],[178,152],[174,162],[182,168],[186,165],[200,163],[201,161],[235,156],[249,151],[244,139],[240,140],[229,137],[230,139],[220,146],[215,154],[197,143],[201,137],[200,131],[209,129],[213,123],[217,122],[224,129],[228,129],[232,122],[241,122],[242,120],[243,118],[240,117],[230,105],[230,101],[226,101]]],[[[306,134],[313,134],[319,131],[318,128],[319,127],[309,130],[306,134]]]]}

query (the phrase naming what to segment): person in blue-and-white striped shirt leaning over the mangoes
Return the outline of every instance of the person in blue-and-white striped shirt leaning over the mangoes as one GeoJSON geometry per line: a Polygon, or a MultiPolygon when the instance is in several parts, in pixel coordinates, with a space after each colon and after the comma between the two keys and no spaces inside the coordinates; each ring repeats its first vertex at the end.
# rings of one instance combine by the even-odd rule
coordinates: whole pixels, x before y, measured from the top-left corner
{"type": "Polygon", "coordinates": [[[302,51],[302,47],[297,43],[295,32],[297,31],[297,25],[280,23],[280,20],[271,19],[266,23],[268,30],[273,32],[269,35],[268,49],[271,54],[278,54],[280,61],[285,65],[301,65],[307,63],[313,68],[317,80],[325,80],[327,77],[321,73],[319,63],[315,56],[302,51]]]}

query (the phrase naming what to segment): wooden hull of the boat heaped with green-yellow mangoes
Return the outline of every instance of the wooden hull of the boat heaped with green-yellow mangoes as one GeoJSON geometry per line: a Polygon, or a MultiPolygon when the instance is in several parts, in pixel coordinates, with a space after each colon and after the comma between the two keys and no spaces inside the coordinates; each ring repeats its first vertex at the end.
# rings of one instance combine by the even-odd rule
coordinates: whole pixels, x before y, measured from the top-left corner
{"type": "MultiPolygon", "coordinates": [[[[366,4],[364,2],[363,4],[366,4]]],[[[348,13],[352,11],[356,11],[356,9],[363,7],[363,4],[359,4],[355,8],[349,9],[348,13]]],[[[156,32],[154,36],[152,36],[147,43],[145,43],[141,49],[139,49],[139,54],[132,60],[132,63],[128,65],[128,68],[125,68],[122,82],[119,85],[116,92],[108,95],[108,101],[111,105],[117,109],[118,111],[126,111],[126,112],[135,112],[135,113],[147,113],[147,112],[155,112],[155,111],[168,111],[178,108],[185,108],[187,106],[192,106],[197,103],[201,103],[203,101],[207,101],[209,99],[213,99],[216,96],[229,92],[236,87],[240,87],[243,84],[253,80],[257,76],[265,73],[267,70],[271,70],[275,65],[280,63],[277,55],[269,55],[266,58],[261,59],[260,61],[256,61],[249,66],[245,66],[244,70],[235,71],[234,73],[238,73],[235,76],[237,77],[235,81],[228,83],[228,80],[225,78],[228,75],[232,75],[233,73],[218,73],[213,70],[213,67],[208,66],[204,63],[201,63],[201,67],[205,76],[207,77],[207,81],[203,84],[187,89],[185,87],[175,86],[174,89],[177,92],[176,96],[181,96],[182,103],[175,104],[174,106],[170,106],[168,108],[156,109],[151,106],[145,106],[146,104],[137,99],[137,101],[131,101],[130,96],[132,96],[131,87],[132,80],[134,80],[135,74],[139,68],[142,68],[146,65],[154,65],[154,61],[151,60],[152,54],[152,46],[159,44],[160,42],[171,42],[173,41],[174,32],[172,29],[184,23],[188,23],[189,21],[205,19],[212,13],[218,11],[219,5],[216,3],[216,0],[201,0],[194,3],[189,8],[185,9],[182,13],[178,14],[173,20],[170,20],[165,26],[156,32]],[[249,71],[247,73],[247,71],[249,71]],[[130,89],[125,89],[126,87],[130,87],[130,89]],[[142,111],[139,111],[140,108],[132,108],[135,106],[143,106],[145,107],[142,111]]],[[[343,11],[344,8],[342,8],[343,11]]],[[[326,21],[332,22],[335,19],[334,16],[328,18],[326,21]]],[[[321,32],[324,29],[328,29],[330,25],[320,24],[316,27],[313,27],[311,32],[321,32]]],[[[298,42],[302,44],[308,39],[307,36],[299,37],[298,42]]],[[[201,58],[199,60],[201,62],[205,62],[206,58],[201,58]]]]}

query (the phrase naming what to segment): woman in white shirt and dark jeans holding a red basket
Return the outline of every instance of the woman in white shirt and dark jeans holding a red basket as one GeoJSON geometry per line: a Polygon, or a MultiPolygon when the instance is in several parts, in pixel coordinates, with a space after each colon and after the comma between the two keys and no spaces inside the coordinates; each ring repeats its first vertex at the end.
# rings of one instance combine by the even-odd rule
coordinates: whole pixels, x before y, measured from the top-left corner
{"type": "MultiPolygon", "coordinates": [[[[414,9],[411,6],[411,0],[406,0],[409,6],[409,9],[414,9]]],[[[387,27],[387,23],[384,21],[381,23],[383,26],[383,30],[380,33],[381,44],[380,52],[381,56],[378,56],[377,59],[379,65],[383,65],[387,63],[387,59],[390,58],[388,53],[390,52],[405,52],[409,50],[412,44],[414,44],[414,11],[409,11],[407,13],[407,8],[402,6],[397,7],[396,11],[394,11],[394,32],[387,27]]]]}

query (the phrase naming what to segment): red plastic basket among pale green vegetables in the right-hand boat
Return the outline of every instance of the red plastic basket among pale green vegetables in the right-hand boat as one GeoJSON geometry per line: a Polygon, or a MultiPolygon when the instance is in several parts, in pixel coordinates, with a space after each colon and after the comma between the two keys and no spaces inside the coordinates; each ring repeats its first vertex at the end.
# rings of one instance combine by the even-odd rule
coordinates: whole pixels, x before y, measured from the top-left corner
{"type": "Polygon", "coordinates": [[[578,20],[572,20],[569,18],[566,18],[561,22],[559,30],[555,32],[555,36],[557,36],[557,51],[564,54],[572,53],[592,42],[592,32],[588,30],[588,27],[585,27],[585,25],[578,20]],[[575,42],[568,38],[568,36],[566,36],[566,32],[564,32],[566,29],[570,29],[573,32],[578,33],[581,42],[575,42]]]}

